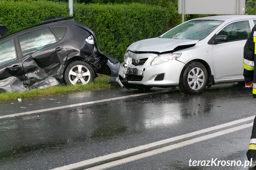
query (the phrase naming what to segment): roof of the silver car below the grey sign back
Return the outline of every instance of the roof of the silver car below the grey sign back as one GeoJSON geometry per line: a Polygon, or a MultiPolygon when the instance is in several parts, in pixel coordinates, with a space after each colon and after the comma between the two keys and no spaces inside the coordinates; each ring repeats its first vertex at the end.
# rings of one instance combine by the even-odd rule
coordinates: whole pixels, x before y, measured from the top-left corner
{"type": "Polygon", "coordinates": [[[193,20],[235,21],[235,20],[246,20],[246,19],[256,19],[256,15],[216,15],[211,17],[196,18],[193,20]]]}

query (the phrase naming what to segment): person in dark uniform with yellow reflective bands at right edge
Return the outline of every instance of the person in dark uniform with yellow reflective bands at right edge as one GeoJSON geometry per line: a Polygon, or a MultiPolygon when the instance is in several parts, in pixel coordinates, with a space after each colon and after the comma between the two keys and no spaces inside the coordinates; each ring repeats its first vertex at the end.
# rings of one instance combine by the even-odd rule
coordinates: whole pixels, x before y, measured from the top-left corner
{"type": "MultiPolygon", "coordinates": [[[[256,59],[256,25],[252,28],[252,32],[249,35],[245,45],[244,45],[244,80],[245,87],[252,87],[252,97],[256,98],[256,69],[255,68],[255,59],[256,59]]],[[[249,150],[246,155],[249,161],[256,164],[256,116],[254,118],[252,126],[252,136],[249,144],[249,150]]]]}

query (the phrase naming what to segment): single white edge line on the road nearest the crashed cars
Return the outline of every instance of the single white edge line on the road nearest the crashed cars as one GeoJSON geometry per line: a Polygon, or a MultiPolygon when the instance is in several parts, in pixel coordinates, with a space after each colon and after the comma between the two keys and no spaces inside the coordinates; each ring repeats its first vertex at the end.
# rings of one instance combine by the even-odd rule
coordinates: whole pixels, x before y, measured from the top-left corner
{"type": "Polygon", "coordinates": [[[101,102],[106,102],[106,101],[119,100],[119,99],[130,98],[130,97],[137,97],[137,96],[142,96],[142,95],[149,95],[149,94],[154,94],[154,93],[159,93],[159,92],[149,92],[149,93],[141,93],[141,94],[134,94],[134,95],[126,95],[126,96],[108,98],[108,99],[103,99],[103,100],[98,100],[98,101],[90,101],[90,102],[85,102],[85,103],[77,103],[77,104],[71,104],[71,105],[66,105],[66,106],[52,107],[52,108],[48,108],[48,109],[40,109],[40,110],[27,111],[27,112],[21,112],[21,113],[16,113],[16,114],[9,114],[9,115],[0,116],[0,119],[6,118],[6,117],[14,117],[14,116],[21,116],[21,115],[26,115],[26,114],[40,113],[40,112],[44,112],[44,111],[52,111],[52,110],[70,108],[70,107],[83,106],[83,105],[88,105],[88,104],[93,104],[93,103],[101,103],[101,102]]]}

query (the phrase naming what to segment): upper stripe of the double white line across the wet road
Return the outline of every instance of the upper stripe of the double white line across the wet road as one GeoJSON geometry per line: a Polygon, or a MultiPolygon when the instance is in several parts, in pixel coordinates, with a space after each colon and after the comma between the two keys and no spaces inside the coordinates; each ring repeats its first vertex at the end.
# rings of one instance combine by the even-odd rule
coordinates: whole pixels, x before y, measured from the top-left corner
{"type": "Polygon", "coordinates": [[[108,154],[108,155],[105,155],[105,156],[100,156],[100,157],[97,157],[97,158],[88,159],[88,160],[81,161],[81,162],[78,162],[78,163],[69,164],[69,165],[58,167],[58,168],[55,168],[55,169],[52,169],[52,170],[70,170],[70,169],[79,168],[79,167],[82,167],[82,166],[90,165],[92,163],[97,163],[97,162],[105,161],[105,160],[108,160],[108,159],[111,159],[111,158],[124,156],[126,154],[134,153],[134,152],[137,152],[137,151],[140,151],[140,150],[152,148],[152,147],[155,147],[155,146],[158,146],[158,145],[163,145],[163,144],[166,144],[166,143],[170,143],[170,142],[173,142],[173,141],[176,141],[176,140],[184,139],[184,138],[187,138],[187,137],[192,137],[192,136],[199,135],[199,134],[202,134],[202,133],[206,133],[206,132],[210,132],[210,131],[213,131],[213,130],[217,130],[217,129],[221,129],[221,128],[224,128],[224,127],[239,124],[239,123],[242,123],[242,122],[250,121],[250,120],[253,120],[254,117],[255,116],[250,116],[250,117],[247,117],[247,118],[235,120],[235,121],[228,122],[228,123],[225,123],[225,124],[220,124],[220,125],[217,125],[217,126],[209,127],[209,128],[206,128],[206,129],[198,130],[198,131],[187,133],[187,134],[184,134],[184,135],[171,137],[171,138],[168,138],[168,139],[165,139],[165,140],[160,140],[160,141],[150,143],[150,144],[147,144],[147,145],[141,145],[141,146],[138,146],[138,147],[135,147],[135,148],[130,148],[130,149],[123,150],[123,151],[120,151],[120,152],[117,152],[117,153],[111,153],[111,154],[108,154]]]}

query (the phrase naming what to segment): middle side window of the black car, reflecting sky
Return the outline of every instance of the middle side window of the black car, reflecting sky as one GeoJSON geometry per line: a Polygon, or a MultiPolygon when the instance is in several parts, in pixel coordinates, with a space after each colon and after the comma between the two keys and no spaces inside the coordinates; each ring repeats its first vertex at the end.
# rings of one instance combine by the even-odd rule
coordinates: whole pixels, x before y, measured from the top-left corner
{"type": "Polygon", "coordinates": [[[56,38],[49,28],[36,30],[18,37],[23,56],[55,44],[56,38]]]}

